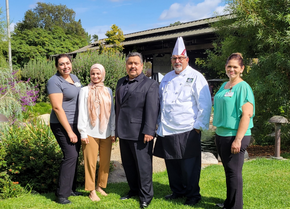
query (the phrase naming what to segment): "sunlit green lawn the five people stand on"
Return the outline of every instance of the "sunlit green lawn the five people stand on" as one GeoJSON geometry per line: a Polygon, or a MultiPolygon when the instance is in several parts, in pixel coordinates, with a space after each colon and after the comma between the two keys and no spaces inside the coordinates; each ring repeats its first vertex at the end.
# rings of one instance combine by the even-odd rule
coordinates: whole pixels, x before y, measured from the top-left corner
{"type": "MultiPolygon", "coordinates": [[[[244,209],[284,209],[290,208],[290,160],[258,159],[244,163],[244,209]]],[[[202,200],[195,206],[184,206],[184,198],[167,201],[165,195],[171,193],[167,173],[153,174],[154,198],[148,209],[199,208],[218,209],[215,204],[222,203],[226,197],[224,170],[222,165],[212,165],[201,171],[200,192],[202,200]]],[[[119,200],[128,192],[127,183],[110,183],[105,189],[109,195],[101,196],[101,201],[92,202],[88,191],[78,188],[84,196],[69,197],[71,205],[54,202],[53,193],[21,196],[0,201],[1,209],[12,208],[86,208],[120,209],[139,208],[139,198],[119,200]]]]}

